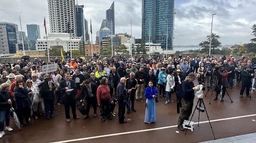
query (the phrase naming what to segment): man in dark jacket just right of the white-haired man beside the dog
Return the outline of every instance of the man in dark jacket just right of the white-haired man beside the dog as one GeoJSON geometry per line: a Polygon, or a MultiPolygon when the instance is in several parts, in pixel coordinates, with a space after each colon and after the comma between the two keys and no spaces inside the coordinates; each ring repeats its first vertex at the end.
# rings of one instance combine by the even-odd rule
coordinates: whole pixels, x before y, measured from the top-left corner
{"type": "Polygon", "coordinates": [[[134,109],[134,96],[137,89],[137,84],[138,84],[138,81],[135,79],[135,74],[134,72],[131,72],[130,78],[126,79],[126,84],[125,84],[125,87],[127,89],[127,94],[128,94],[127,101],[129,102],[129,104],[131,101],[131,104],[130,104],[131,109],[127,105],[127,114],[129,114],[130,110],[132,110],[133,112],[136,112],[136,110],[134,109]]]}

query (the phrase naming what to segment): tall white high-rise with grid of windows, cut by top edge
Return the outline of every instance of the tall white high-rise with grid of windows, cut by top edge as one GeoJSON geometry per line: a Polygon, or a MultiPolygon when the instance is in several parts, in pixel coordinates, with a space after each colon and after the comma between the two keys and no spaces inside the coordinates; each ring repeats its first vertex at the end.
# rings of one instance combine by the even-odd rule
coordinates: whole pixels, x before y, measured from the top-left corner
{"type": "Polygon", "coordinates": [[[48,0],[51,33],[67,33],[67,22],[72,36],[77,35],[75,0],[48,0]]]}

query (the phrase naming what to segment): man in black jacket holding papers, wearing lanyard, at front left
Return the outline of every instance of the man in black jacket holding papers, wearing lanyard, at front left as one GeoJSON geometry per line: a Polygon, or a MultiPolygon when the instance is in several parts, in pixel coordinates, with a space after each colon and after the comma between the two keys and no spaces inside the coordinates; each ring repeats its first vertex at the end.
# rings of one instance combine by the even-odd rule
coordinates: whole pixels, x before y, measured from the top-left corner
{"type": "Polygon", "coordinates": [[[69,79],[69,72],[65,73],[65,80],[60,81],[59,90],[63,94],[63,103],[65,107],[65,116],[67,122],[70,122],[69,108],[72,109],[72,114],[74,119],[79,119],[76,114],[76,94],[77,94],[77,86],[75,81],[69,79]]]}

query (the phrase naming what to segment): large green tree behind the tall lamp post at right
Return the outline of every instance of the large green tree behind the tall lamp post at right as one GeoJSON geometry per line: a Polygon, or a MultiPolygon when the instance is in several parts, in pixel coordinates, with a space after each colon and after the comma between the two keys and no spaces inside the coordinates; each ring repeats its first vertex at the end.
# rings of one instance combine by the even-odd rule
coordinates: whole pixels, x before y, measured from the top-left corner
{"type": "Polygon", "coordinates": [[[202,41],[199,43],[199,46],[202,47],[201,52],[202,53],[207,53],[209,52],[210,49],[210,39],[211,39],[211,53],[215,54],[215,49],[221,46],[221,43],[219,42],[220,36],[217,34],[212,33],[211,36],[208,35],[206,41],[202,41]]]}

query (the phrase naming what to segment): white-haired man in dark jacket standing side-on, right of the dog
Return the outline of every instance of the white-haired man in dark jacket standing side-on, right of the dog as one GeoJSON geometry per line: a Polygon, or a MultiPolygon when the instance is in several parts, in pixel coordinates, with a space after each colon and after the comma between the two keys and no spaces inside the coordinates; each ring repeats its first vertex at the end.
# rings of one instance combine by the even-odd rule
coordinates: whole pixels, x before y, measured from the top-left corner
{"type": "Polygon", "coordinates": [[[124,121],[124,114],[125,114],[125,105],[127,99],[127,92],[125,89],[125,78],[121,78],[120,83],[118,83],[116,88],[116,99],[118,100],[118,119],[119,123],[127,123],[124,121]]]}

